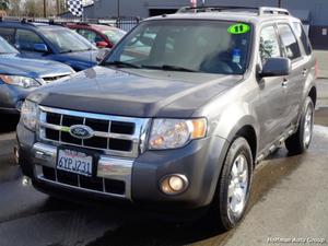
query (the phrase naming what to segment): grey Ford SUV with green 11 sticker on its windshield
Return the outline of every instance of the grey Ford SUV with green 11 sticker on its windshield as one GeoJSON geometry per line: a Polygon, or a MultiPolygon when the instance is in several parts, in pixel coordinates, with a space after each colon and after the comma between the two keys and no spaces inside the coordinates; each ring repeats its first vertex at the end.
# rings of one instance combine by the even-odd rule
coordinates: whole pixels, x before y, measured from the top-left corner
{"type": "Polygon", "coordinates": [[[19,160],[52,196],[243,218],[257,163],[312,140],[315,58],[272,8],[185,8],[148,19],[102,65],[32,93],[19,160]]]}

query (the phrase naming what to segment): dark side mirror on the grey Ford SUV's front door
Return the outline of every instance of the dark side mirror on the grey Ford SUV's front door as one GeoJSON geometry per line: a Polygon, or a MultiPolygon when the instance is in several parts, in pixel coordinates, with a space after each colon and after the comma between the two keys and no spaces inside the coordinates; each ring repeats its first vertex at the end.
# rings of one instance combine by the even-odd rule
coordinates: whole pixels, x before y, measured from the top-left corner
{"type": "Polygon", "coordinates": [[[269,58],[259,73],[263,77],[284,77],[289,75],[292,70],[292,62],[289,58],[269,58]]]}

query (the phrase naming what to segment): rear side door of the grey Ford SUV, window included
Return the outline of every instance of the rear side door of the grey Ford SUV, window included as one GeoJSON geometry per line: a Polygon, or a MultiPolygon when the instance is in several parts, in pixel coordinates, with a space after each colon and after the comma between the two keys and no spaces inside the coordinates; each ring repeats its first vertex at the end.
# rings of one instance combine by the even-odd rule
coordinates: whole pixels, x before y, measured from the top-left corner
{"type": "Polygon", "coordinates": [[[297,38],[289,23],[279,23],[278,31],[284,56],[292,61],[292,72],[284,82],[286,90],[286,108],[284,110],[285,127],[296,124],[302,106],[302,94],[308,72],[307,60],[302,54],[297,38]]]}

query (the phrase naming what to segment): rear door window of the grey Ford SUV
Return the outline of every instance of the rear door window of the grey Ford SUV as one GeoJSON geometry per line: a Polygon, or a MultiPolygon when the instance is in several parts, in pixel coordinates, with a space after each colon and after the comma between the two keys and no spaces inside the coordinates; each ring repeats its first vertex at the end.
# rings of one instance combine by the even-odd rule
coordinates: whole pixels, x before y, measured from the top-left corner
{"type": "Polygon", "coordinates": [[[281,42],[285,48],[286,57],[295,60],[301,57],[301,50],[292,28],[288,24],[278,25],[281,42]]]}

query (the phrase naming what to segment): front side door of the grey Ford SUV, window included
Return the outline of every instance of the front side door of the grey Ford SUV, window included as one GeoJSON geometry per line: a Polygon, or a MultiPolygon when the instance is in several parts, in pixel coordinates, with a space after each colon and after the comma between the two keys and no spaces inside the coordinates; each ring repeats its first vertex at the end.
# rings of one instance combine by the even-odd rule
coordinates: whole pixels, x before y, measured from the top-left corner
{"type": "MultiPolygon", "coordinates": [[[[259,57],[261,67],[268,58],[282,57],[279,36],[273,24],[261,28],[259,57]]],[[[261,149],[268,147],[284,130],[281,126],[286,104],[283,82],[283,77],[262,78],[258,81],[261,97],[261,109],[258,114],[262,136],[259,145],[261,149]]]]}

